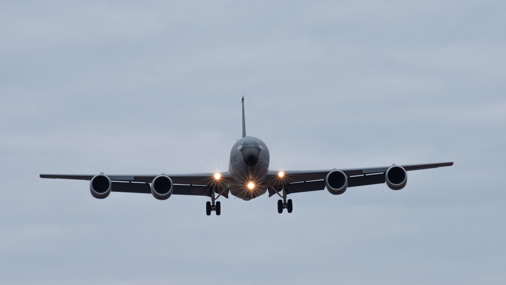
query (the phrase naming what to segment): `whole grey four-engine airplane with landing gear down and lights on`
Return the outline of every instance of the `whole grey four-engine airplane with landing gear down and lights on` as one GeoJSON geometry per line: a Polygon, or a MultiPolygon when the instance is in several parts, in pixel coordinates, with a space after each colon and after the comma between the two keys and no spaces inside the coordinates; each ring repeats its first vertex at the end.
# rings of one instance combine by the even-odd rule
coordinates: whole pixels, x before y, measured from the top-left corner
{"type": "Polygon", "coordinates": [[[206,215],[212,211],[221,214],[221,203],[216,201],[229,194],[243,199],[255,199],[266,192],[269,197],[278,195],[278,213],[293,211],[288,194],[327,189],[330,194],[341,195],[348,187],[386,183],[393,190],[406,186],[406,171],[451,166],[453,162],[391,165],[383,167],[328,169],[306,171],[269,170],[269,149],[254,136],[246,136],[244,97],[242,103],[242,138],[230,152],[228,172],[198,174],[106,175],[100,174],[40,174],[40,178],[75,179],[90,181],[90,193],[104,199],[111,192],[146,193],[158,200],[174,195],[207,196],[206,215]]]}

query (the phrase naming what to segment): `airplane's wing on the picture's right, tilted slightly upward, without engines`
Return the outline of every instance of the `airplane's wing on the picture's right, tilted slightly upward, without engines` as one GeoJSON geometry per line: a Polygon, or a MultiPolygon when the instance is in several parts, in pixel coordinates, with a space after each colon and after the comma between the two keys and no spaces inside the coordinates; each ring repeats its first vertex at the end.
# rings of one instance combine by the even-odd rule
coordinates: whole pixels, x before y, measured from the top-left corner
{"type": "MultiPolygon", "coordinates": [[[[451,166],[453,162],[401,165],[406,171],[451,166]]],[[[348,187],[385,183],[385,172],[390,166],[337,169],[343,171],[348,177],[348,187]]],[[[279,171],[269,171],[266,185],[269,187],[269,197],[281,191],[286,185],[287,194],[318,191],[325,189],[325,177],[336,169],[310,170],[310,171],[283,171],[281,179],[279,171]],[[274,189],[272,189],[274,188],[274,189]]]]}

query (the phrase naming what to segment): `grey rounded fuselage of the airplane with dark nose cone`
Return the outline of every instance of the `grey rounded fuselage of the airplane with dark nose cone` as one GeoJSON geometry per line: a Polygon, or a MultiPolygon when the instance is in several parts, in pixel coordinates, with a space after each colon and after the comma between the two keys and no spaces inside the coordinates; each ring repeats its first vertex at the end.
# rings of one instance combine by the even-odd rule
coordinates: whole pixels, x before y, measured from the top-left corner
{"type": "Polygon", "coordinates": [[[253,136],[237,141],[230,151],[229,171],[237,187],[230,192],[235,197],[251,200],[265,194],[267,188],[262,182],[269,171],[269,149],[264,142],[253,136]]]}

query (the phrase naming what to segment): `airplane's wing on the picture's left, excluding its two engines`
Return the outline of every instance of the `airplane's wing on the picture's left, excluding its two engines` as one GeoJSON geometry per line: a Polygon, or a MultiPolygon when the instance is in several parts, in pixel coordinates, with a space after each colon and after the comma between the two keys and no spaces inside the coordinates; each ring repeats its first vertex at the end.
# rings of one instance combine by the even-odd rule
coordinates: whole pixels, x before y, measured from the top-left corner
{"type": "MultiPolygon", "coordinates": [[[[107,175],[112,182],[112,192],[148,193],[151,194],[149,183],[157,175],[107,175]]],[[[90,174],[40,174],[40,178],[91,180],[95,175],[90,174]]],[[[213,187],[216,193],[228,198],[230,184],[233,178],[229,172],[221,173],[219,180],[214,173],[174,174],[167,175],[174,183],[174,195],[212,196],[213,187]]]]}

